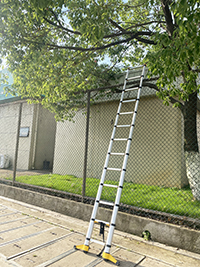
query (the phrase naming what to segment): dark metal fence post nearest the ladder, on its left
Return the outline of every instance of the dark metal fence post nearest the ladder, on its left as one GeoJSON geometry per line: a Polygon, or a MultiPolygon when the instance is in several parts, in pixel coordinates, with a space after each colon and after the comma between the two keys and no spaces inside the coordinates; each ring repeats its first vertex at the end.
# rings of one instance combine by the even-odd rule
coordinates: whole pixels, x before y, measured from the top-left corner
{"type": "Polygon", "coordinates": [[[85,156],[84,156],[84,168],[83,168],[82,201],[83,198],[85,197],[85,188],[86,188],[89,121],[90,121],[90,91],[87,91],[87,119],[86,119],[86,132],[85,132],[85,156]]]}

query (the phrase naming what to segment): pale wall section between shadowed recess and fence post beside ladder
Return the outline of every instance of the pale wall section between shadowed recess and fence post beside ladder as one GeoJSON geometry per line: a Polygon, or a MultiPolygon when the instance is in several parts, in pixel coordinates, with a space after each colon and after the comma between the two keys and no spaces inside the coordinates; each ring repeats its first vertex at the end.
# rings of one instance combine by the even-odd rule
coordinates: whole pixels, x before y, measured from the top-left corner
{"type": "Polygon", "coordinates": [[[83,177],[86,117],[77,112],[74,122],[57,123],[53,173],[83,177]]]}

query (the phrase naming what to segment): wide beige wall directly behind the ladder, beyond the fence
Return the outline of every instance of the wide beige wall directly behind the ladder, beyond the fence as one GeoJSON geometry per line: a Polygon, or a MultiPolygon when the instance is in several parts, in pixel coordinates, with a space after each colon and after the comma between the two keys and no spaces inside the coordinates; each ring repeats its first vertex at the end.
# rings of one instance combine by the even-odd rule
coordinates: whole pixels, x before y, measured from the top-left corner
{"type": "MultiPolygon", "coordinates": [[[[91,106],[87,177],[100,178],[113,129],[118,101],[91,106]]],[[[130,105],[126,104],[130,111],[130,105]]],[[[119,124],[128,124],[125,115],[119,124]]],[[[139,104],[125,179],[133,183],[182,187],[187,184],[183,171],[184,154],[181,113],[167,107],[156,97],[143,97],[139,104]]],[[[54,173],[83,176],[85,116],[79,112],[76,123],[57,124],[54,173]]],[[[128,137],[124,128],[116,137],[128,137]]],[[[116,143],[117,144],[117,143],[116,143]]],[[[124,152],[125,143],[113,145],[113,151],[124,152]]],[[[122,166],[121,156],[112,156],[110,167],[122,166]],[[121,159],[120,159],[121,158],[121,159]]],[[[107,172],[108,179],[119,173],[107,172]]]]}

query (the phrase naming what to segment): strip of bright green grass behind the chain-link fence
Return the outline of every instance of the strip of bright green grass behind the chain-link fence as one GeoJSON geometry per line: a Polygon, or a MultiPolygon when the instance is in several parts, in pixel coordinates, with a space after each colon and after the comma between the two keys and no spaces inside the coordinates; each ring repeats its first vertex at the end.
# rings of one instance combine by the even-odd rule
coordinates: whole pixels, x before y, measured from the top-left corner
{"type": "MultiPolygon", "coordinates": [[[[17,182],[53,188],[69,193],[82,193],[82,178],[73,175],[34,175],[20,176],[17,182]]],[[[115,181],[106,183],[117,184],[115,181]]],[[[87,178],[86,196],[96,197],[99,186],[99,179],[87,178]]],[[[102,199],[114,201],[116,195],[115,188],[104,187],[102,199]]],[[[189,187],[183,189],[163,188],[159,186],[149,186],[142,184],[124,183],[121,203],[136,207],[153,209],[177,215],[200,218],[200,201],[194,201],[189,187]]]]}

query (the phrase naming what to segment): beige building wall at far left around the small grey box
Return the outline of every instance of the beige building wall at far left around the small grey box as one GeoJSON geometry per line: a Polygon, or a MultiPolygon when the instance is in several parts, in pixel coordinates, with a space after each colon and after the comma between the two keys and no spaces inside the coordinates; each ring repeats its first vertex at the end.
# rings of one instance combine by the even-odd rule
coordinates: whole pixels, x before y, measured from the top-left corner
{"type": "MultiPolygon", "coordinates": [[[[53,114],[39,105],[21,102],[21,127],[29,127],[29,136],[19,137],[17,169],[42,169],[45,159],[52,166],[56,128],[53,114]]],[[[0,154],[9,156],[11,168],[15,158],[19,103],[0,105],[0,154]]]]}

